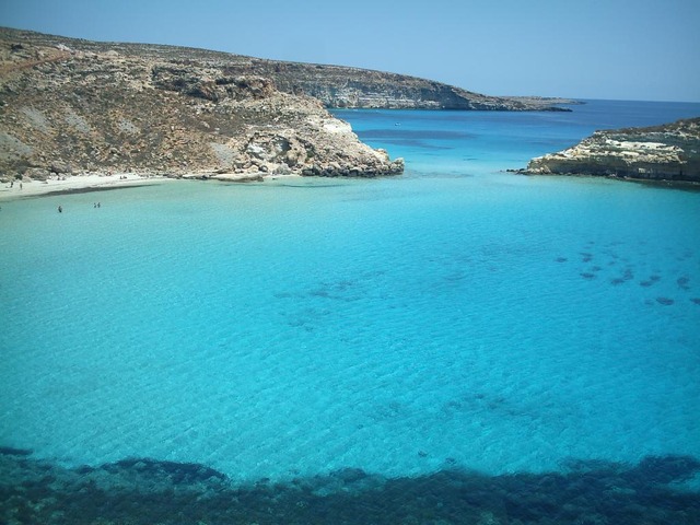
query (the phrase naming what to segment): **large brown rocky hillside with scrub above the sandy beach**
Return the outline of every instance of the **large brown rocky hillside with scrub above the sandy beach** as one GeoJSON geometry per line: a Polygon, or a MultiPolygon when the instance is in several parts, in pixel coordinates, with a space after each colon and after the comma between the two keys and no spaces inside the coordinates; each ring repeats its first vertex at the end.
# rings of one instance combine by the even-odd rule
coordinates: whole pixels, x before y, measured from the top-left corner
{"type": "Polygon", "coordinates": [[[402,172],[318,100],[199,52],[0,30],[0,176],[402,172]]]}

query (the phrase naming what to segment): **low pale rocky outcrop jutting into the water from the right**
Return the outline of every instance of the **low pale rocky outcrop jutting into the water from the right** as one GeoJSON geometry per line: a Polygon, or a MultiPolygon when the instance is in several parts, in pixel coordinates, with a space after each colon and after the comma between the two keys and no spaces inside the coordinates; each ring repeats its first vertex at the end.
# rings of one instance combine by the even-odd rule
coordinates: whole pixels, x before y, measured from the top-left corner
{"type": "Polygon", "coordinates": [[[573,148],[533,159],[523,173],[700,182],[700,118],[596,131],[573,148]]]}

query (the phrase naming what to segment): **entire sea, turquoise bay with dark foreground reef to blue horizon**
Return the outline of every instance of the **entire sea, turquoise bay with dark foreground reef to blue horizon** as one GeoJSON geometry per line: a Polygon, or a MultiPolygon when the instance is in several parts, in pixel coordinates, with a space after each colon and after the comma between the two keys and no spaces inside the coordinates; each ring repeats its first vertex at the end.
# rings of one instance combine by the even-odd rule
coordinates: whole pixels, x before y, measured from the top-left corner
{"type": "Polygon", "coordinates": [[[18,523],[700,523],[700,191],[509,172],[700,104],[570,108],[332,110],[400,176],[2,202],[18,523]]]}

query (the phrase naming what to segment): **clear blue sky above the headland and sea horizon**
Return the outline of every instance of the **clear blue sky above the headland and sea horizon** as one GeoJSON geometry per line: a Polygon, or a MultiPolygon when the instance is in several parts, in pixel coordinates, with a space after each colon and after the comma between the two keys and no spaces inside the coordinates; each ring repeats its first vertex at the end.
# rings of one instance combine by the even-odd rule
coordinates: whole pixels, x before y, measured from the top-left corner
{"type": "Polygon", "coordinates": [[[700,0],[0,0],[0,25],[355,66],[492,95],[700,102],[700,0]]]}

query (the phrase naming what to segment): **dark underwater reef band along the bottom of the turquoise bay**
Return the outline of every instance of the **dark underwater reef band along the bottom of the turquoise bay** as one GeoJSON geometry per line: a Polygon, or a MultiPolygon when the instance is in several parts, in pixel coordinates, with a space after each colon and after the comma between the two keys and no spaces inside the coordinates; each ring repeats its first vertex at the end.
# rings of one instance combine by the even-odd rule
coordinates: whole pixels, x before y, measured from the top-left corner
{"type": "Polygon", "coordinates": [[[674,524],[700,523],[688,456],[638,465],[572,460],[561,472],[441,470],[383,478],[361,469],[234,486],[197,464],[124,459],[66,468],[0,448],[2,524],[674,524]]]}

